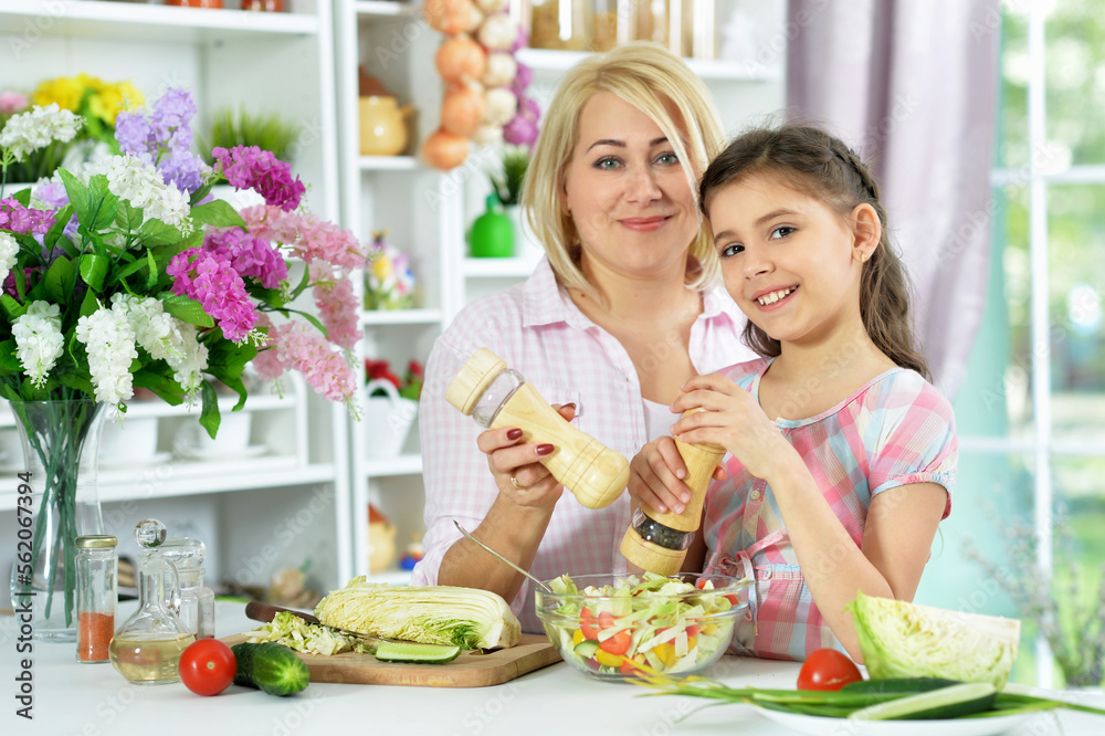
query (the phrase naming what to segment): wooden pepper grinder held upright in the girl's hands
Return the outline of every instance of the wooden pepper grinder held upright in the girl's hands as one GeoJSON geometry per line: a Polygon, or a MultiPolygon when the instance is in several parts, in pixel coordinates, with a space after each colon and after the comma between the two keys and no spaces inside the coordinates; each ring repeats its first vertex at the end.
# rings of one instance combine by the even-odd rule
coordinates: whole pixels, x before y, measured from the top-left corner
{"type": "MultiPolygon", "coordinates": [[[[702,409],[692,409],[683,416],[695,411],[702,409]]],[[[725,448],[712,442],[686,444],[676,438],[675,448],[687,469],[686,484],[691,488],[691,502],[682,514],[660,514],[638,508],[633,512],[633,523],[625,529],[621,544],[621,554],[625,559],[659,575],[674,575],[682,568],[687,547],[694,542],[695,532],[702,522],[706,486],[725,454],[725,448]]]]}

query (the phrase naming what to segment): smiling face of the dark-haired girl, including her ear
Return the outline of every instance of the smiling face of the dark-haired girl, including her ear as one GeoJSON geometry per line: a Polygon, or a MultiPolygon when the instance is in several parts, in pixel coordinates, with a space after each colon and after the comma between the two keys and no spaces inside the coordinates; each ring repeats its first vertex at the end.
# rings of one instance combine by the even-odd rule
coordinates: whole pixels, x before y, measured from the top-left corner
{"type": "Polygon", "coordinates": [[[708,217],[725,287],[772,338],[817,345],[862,328],[857,249],[870,254],[870,233],[780,178],[760,175],[715,191],[708,217]]]}

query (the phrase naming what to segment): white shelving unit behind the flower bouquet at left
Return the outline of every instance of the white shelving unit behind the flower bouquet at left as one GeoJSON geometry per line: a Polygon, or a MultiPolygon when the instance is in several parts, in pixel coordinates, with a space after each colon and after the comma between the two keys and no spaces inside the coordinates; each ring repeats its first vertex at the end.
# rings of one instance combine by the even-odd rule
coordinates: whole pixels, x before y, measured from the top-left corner
{"type": "MultiPolygon", "coordinates": [[[[303,130],[293,169],[308,186],[308,206],[337,220],[332,3],[287,4],[288,12],[259,13],[99,0],[0,0],[0,90],[30,91],[45,78],[87,73],[128,80],[152,103],[167,87],[183,86],[198,107],[193,130],[202,130],[225,107],[280,113],[303,130]]],[[[152,513],[182,525],[199,519],[196,527],[204,532],[209,547],[209,578],[235,577],[249,562],[255,568],[252,581],[262,586],[278,567],[302,564],[302,549],[314,547],[314,535],[327,546],[326,561],[316,567],[319,585],[328,589],[344,582],[352,569],[346,412],[314,396],[298,376],[282,379],[282,385],[283,397],[251,392],[245,410],[254,420],[252,435],[238,458],[173,453],[149,465],[102,469],[105,516],[120,522],[112,530],[125,535],[124,519],[133,524],[136,515],[152,513]],[[282,529],[291,528],[280,526],[282,517],[304,517],[301,498],[315,498],[307,492],[311,486],[318,486],[322,498],[315,507],[325,507],[320,516],[312,512],[316,529],[297,526],[295,544],[274,544],[282,529]],[[270,517],[277,521],[270,524],[270,517]],[[254,565],[253,550],[265,548],[278,554],[264,555],[254,565]]],[[[236,397],[220,400],[224,419],[235,402],[236,397]]],[[[169,437],[194,424],[199,414],[198,407],[188,416],[183,407],[160,401],[133,401],[129,409],[130,419],[156,417],[159,432],[169,437]]],[[[12,427],[10,414],[7,427],[12,427]]],[[[171,448],[162,442],[159,450],[165,454],[171,448]]],[[[0,494],[0,514],[11,508],[12,496],[0,494]]],[[[0,569],[9,561],[0,560],[0,569]]]]}

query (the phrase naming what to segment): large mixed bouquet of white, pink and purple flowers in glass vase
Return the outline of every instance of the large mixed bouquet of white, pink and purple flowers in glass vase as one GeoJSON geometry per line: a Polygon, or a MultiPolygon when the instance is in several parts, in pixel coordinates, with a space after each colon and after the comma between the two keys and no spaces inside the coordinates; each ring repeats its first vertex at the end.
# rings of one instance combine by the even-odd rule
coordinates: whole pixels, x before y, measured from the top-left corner
{"type": "Polygon", "coordinates": [[[12,194],[8,169],[72,139],[83,120],[34,107],[0,135],[0,396],[36,466],[20,487],[38,517],[25,524],[33,534],[12,592],[18,606],[40,589],[40,629],[61,608],[55,591],[64,591],[59,628],[72,625],[74,539],[103,532],[98,504],[77,497],[78,459],[103,407],[122,421],[141,387],[170,404],[197,402],[213,438],[212,381],[236,392],[241,409],[251,361],[263,380],[296,370],[316,392],[354,406],[348,351],[360,333],[348,272],[365,250],[306,211],[304,185],[272,154],[217,148],[215,166],[204,165],[190,150],[194,113],[187,92],[169,90],[150,109],[118,115],[119,155],[12,194]],[[235,211],[211,200],[222,180],[265,203],[235,211]],[[292,306],[307,290],[317,316],[292,306]],[[34,404],[76,409],[41,420],[34,404]],[[82,521],[85,506],[93,511],[82,521]]]}

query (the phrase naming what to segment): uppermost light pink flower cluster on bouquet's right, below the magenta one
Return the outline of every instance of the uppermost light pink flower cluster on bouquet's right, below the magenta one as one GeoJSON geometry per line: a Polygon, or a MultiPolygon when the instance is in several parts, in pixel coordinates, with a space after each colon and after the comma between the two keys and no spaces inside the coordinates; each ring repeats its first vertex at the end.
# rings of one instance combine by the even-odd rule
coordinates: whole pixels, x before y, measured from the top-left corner
{"type": "Polygon", "coordinates": [[[325,261],[343,269],[359,269],[368,257],[351,232],[314,214],[260,204],[240,214],[254,236],[291,248],[305,263],[325,261]]]}

